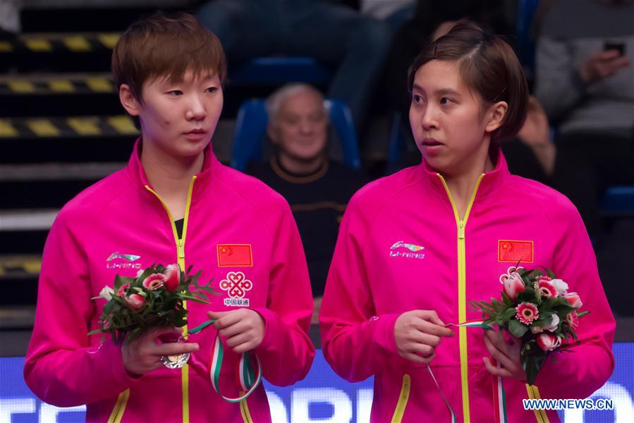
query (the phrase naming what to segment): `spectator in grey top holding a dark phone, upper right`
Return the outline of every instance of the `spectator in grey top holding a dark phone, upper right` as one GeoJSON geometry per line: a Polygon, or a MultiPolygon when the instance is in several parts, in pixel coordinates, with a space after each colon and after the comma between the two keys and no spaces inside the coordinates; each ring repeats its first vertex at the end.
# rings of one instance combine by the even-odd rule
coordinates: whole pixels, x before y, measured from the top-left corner
{"type": "Polygon", "coordinates": [[[537,42],[536,95],[558,125],[556,188],[591,236],[609,185],[634,184],[634,2],[561,0],[537,42]]]}

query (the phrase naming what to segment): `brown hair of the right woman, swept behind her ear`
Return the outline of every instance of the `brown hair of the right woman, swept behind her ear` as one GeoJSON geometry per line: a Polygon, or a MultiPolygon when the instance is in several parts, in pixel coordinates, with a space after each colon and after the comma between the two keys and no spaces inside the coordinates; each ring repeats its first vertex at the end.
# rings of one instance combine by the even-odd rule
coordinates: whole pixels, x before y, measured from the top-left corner
{"type": "Polygon", "coordinates": [[[492,133],[492,147],[518,134],[528,110],[528,84],[508,43],[469,20],[461,20],[446,35],[429,42],[417,56],[408,77],[410,92],[416,71],[434,59],[458,61],[465,85],[482,102],[508,104],[502,125],[492,133]]]}

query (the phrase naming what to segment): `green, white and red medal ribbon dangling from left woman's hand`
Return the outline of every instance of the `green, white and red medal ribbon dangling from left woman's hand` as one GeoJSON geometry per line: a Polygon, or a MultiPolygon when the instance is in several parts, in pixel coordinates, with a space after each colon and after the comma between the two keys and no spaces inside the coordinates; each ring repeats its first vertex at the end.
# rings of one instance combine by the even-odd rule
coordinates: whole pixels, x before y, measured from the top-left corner
{"type": "MultiPolygon", "coordinates": [[[[205,321],[205,323],[196,326],[188,333],[198,333],[214,323],[214,319],[205,321]]],[[[222,358],[224,357],[224,346],[220,340],[220,336],[216,335],[214,341],[214,349],[209,357],[209,380],[212,382],[214,391],[218,393],[228,403],[240,403],[250,396],[253,391],[262,382],[262,365],[257,355],[253,355],[255,358],[255,369],[253,367],[253,361],[249,352],[240,354],[240,362],[238,363],[238,381],[240,381],[240,396],[238,397],[226,397],[220,392],[220,369],[222,367],[222,358]]]]}

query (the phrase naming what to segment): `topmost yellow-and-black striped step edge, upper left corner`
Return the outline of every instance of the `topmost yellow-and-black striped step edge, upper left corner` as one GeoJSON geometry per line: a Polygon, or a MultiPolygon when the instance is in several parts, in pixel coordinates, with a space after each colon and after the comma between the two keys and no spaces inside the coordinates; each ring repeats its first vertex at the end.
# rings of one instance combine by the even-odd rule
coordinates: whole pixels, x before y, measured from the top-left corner
{"type": "Polygon", "coordinates": [[[112,50],[120,32],[90,32],[82,34],[23,34],[13,41],[0,41],[0,54],[26,50],[32,53],[70,51],[89,53],[112,50]]]}

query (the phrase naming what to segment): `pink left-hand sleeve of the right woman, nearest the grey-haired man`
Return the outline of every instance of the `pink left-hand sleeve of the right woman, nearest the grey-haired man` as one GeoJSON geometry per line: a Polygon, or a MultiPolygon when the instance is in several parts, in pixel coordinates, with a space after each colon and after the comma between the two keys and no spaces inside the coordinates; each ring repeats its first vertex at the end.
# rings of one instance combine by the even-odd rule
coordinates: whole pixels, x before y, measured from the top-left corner
{"type": "Polygon", "coordinates": [[[367,209],[362,212],[353,197],[341,221],[319,315],[324,357],[351,382],[367,379],[398,355],[394,340],[398,314],[377,316],[374,308],[362,254],[369,225],[362,213],[367,209]]]}

